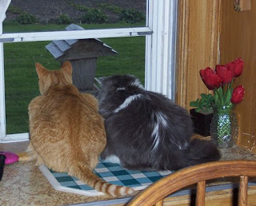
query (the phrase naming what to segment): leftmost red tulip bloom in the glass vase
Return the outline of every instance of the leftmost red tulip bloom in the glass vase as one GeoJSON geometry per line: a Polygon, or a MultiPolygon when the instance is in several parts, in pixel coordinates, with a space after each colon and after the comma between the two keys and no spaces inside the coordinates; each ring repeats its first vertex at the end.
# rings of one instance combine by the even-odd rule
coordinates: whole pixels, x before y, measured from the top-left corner
{"type": "Polygon", "coordinates": [[[210,90],[217,89],[222,83],[221,78],[218,77],[214,69],[210,69],[210,67],[207,67],[206,69],[201,69],[200,75],[202,77],[202,81],[210,90]]]}

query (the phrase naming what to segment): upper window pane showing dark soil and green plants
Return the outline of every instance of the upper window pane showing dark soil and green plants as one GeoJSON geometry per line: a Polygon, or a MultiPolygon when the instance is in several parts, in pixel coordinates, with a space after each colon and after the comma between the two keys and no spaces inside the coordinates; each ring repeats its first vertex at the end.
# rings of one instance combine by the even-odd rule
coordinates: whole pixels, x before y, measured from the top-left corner
{"type": "Polygon", "coordinates": [[[146,0],[12,0],[3,30],[65,30],[71,23],[86,30],[146,26],[146,0]]]}

